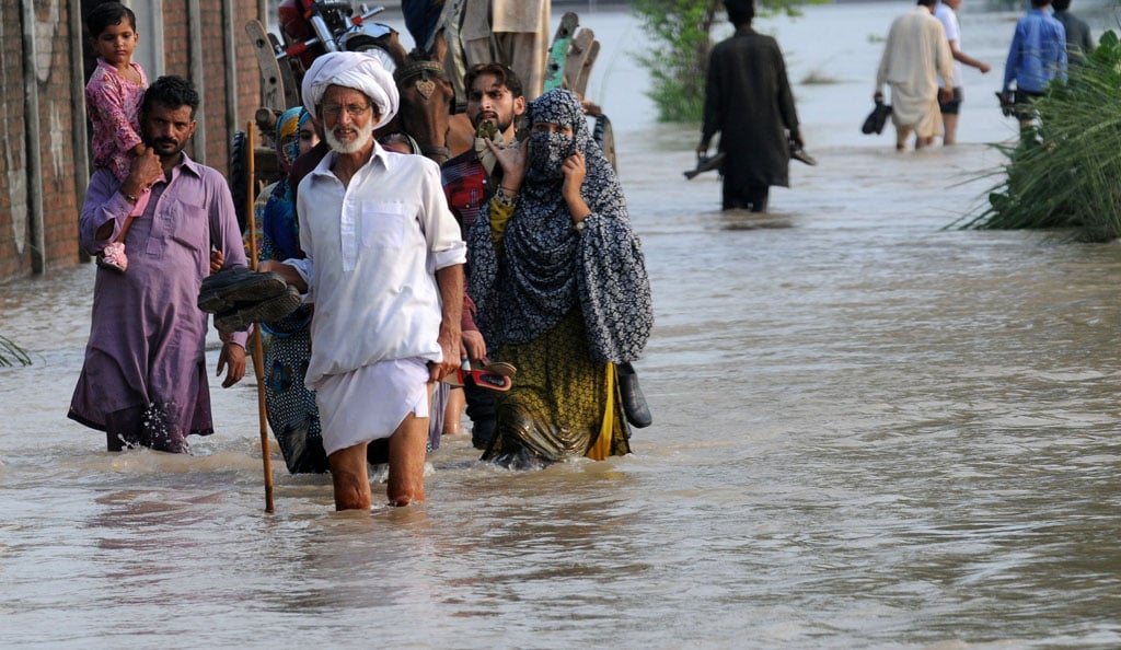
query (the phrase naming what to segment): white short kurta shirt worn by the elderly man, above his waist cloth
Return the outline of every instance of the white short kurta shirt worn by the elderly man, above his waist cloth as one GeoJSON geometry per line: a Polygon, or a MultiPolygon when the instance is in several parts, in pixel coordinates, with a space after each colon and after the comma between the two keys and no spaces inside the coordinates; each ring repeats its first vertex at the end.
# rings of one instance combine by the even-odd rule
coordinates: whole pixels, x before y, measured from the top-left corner
{"type": "Polygon", "coordinates": [[[293,264],[315,304],[306,383],[380,361],[439,361],[438,269],[466,261],[447,210],[439,167],[420,156],[373,155],[342,183],[328,152],[299,184],[299,243],[293,264]]]}

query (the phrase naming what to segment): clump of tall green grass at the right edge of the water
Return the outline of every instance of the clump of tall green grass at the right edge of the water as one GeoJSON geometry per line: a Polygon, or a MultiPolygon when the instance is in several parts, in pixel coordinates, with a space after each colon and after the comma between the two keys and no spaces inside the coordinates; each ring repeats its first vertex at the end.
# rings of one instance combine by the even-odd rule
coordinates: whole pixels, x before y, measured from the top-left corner
{"type": "MultiPolygon", "coordinates": [[[[1113,31],[1068,82],[1035,102],[1038,123],[1008,157],[989,205],[961,227],[1069,229],[1078,239],[1121,236],[1121,40],[1113,31]]],[[[997,174],[1000,174],[998,171],[997,174]]]]}

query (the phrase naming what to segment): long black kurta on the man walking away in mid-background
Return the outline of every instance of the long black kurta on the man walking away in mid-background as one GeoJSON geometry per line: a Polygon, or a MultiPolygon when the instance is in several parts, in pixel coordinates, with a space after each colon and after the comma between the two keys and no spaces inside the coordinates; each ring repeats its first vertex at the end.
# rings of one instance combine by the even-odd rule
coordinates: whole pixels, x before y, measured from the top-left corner
{"type": "Polygon", "coordinates": [[[786,63],[770,36],[742,27],[708,58],[703,138],[720,132],[724,183],[789,186],[790,145],[798,114],[786,63]]]}

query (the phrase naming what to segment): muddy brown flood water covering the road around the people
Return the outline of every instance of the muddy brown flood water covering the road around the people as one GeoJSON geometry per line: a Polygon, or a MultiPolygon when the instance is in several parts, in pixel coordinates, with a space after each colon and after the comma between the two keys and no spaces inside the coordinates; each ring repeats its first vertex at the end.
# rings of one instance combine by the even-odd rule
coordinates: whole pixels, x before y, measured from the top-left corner
{"type": "Polygon", "coordinates": [[[859,132],[910,7],[758,21],[821,162],[766,217],[683,178],[698,128],[655,122],[638,26],[583,16],[655,292],[623,458],[513,473],[445,438],[425,504],[339,514],[274,444],[266,514],[252,378],[212,387],[194,456],[110,455],[65,419],[93,266],[0,286],[35,361],[0,369],[0,646],[1121,646],[1121,245],[945,229],[1015,133],[1013,13],[961,15],[994,69],[966,71],[960,145],[859,132]]]}

